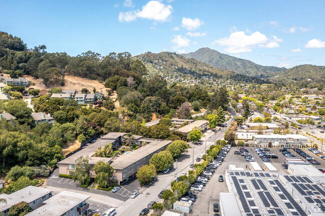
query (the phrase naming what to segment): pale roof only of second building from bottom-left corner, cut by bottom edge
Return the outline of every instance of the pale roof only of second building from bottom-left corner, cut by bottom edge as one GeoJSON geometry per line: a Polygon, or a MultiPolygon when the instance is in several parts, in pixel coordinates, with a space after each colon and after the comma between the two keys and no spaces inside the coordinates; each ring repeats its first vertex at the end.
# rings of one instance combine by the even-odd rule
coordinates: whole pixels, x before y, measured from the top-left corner
{"type": "Polygon", "coordinates": [[[35,209],[26,216],[59,216],[70,211],[73,207],[79,205],[88,198],[90,198],[88,195],[62,191],[58,195],[44,201],[44,206],[35,209]]]}

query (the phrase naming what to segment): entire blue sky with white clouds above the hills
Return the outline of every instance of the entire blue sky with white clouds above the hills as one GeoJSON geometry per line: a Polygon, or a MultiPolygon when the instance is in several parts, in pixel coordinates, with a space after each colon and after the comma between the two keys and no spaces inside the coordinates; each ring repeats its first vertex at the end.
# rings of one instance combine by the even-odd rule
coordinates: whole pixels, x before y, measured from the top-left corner
{"type": "Polygon", "coordinates": [[[75,56],[209,47],[262,65],[325,65],[323,0],[1,0],[0,30],[75,56]]]}

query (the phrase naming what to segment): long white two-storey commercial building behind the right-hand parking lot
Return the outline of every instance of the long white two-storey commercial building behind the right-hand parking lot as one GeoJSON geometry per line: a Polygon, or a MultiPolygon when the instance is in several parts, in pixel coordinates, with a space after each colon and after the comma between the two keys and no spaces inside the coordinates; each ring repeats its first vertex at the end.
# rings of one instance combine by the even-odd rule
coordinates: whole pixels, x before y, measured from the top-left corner
{"type": "Polygon", "coordinates": [[[280,146],[296,146],[303,147],[306,146],[307,140],[309,138],[302,136],[300,134],[271,134],[271,135],[253,135],[253,144],[258,147],[267,147],[269,144],[272,147],[280,146]]]}

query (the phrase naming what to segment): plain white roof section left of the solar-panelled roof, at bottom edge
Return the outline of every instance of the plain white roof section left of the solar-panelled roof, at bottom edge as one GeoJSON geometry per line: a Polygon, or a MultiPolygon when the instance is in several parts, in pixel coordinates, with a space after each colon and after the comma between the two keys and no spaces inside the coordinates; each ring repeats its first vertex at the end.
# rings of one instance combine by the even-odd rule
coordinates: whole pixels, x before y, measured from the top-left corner
{"type": "Polygon", "coordinates": [[[220,209],[222,216],[240,216],[240,210],[236,197],[230,193],[220,193],[220,209]]]}

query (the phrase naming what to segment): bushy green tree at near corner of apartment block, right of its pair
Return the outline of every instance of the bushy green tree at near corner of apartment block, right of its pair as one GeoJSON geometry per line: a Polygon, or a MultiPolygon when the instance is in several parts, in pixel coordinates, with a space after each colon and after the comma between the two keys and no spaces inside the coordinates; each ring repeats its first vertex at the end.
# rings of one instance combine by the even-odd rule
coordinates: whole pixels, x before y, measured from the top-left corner
{"type": "Polygon", "coordinates": [[[93,167],[95,171],[95,182],[98,183],[99,188],[108,188],[109,180],[112,178],[115,170],[112,168],[108,162],[104,163],[98,161],[93,167]]]}

